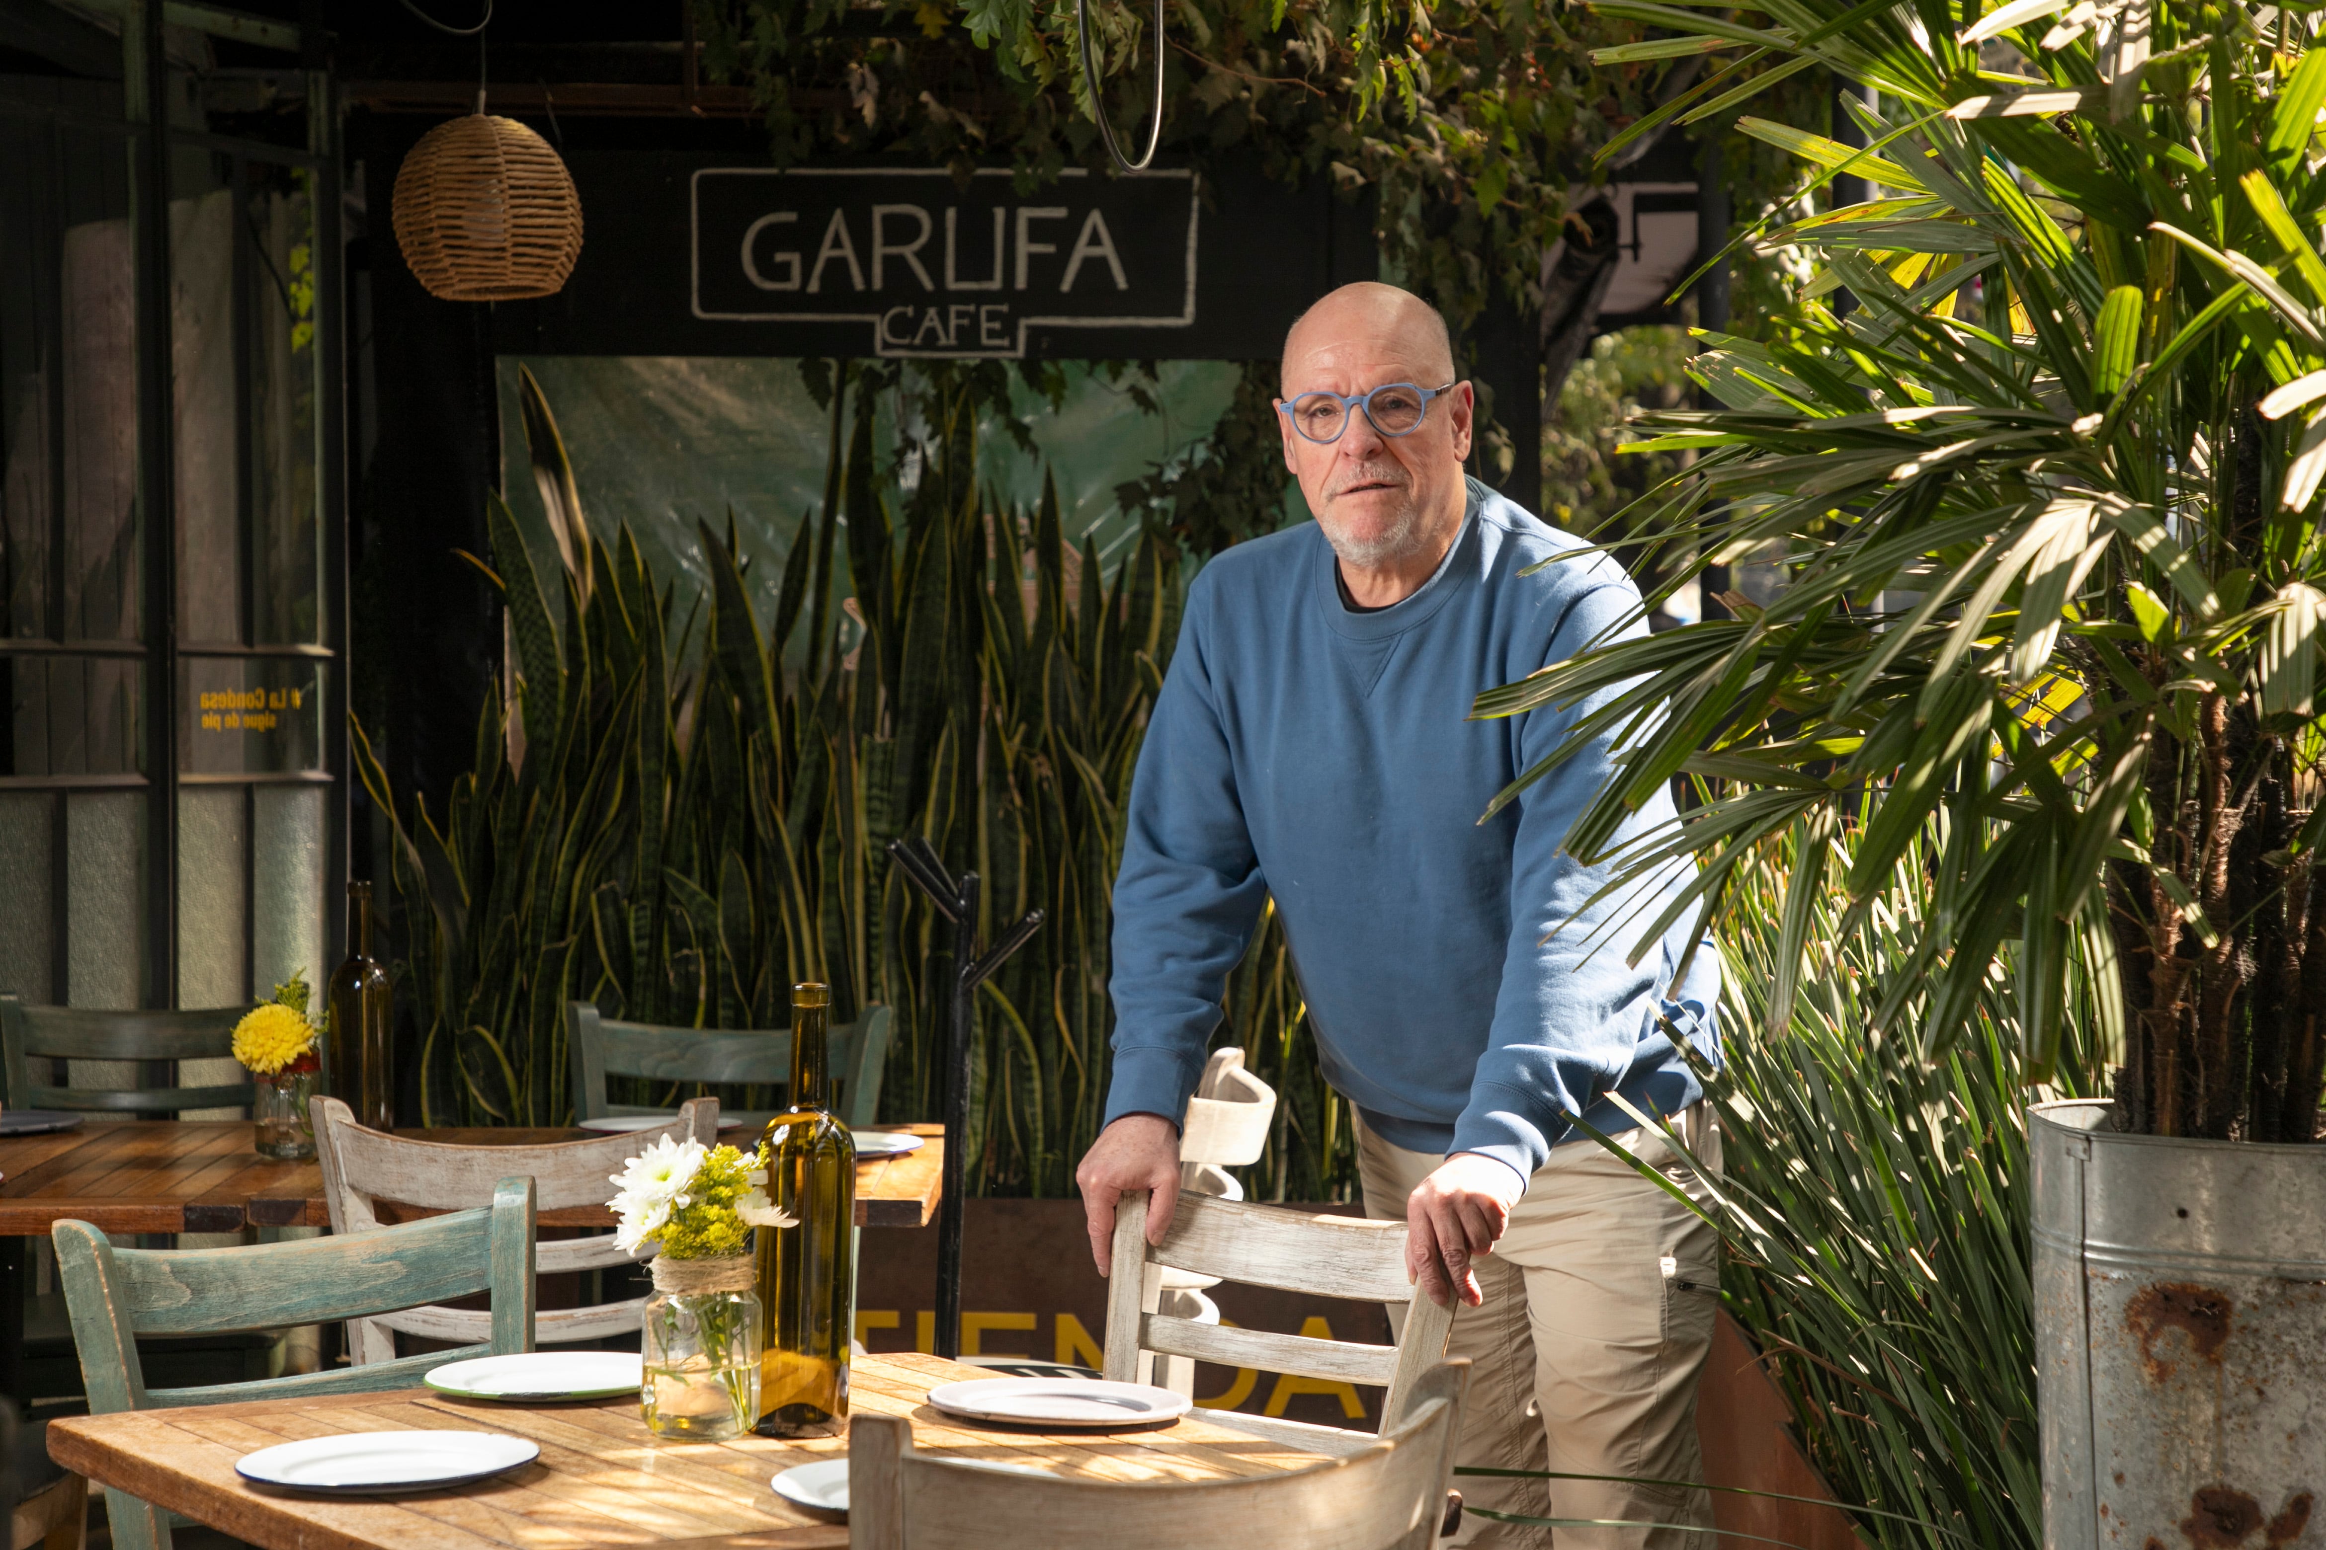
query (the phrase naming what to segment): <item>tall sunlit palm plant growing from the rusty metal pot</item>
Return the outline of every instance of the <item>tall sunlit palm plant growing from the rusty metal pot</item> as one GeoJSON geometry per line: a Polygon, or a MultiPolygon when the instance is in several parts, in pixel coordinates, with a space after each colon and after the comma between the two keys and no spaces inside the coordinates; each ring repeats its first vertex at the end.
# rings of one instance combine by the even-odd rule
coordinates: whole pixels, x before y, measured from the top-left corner
{"type": "Polygon", "coordinates": [[[1665,53],[1744,53],[1707,79],[1717,100],[1670,112],[1726,112],[1800,65],[1877,88],[1854,109],[1863,151],[1740,128],[1805,158],[1812,186],[1851,172],[1879,195],[1772,216],[1763,239],[1824,265],[1796,316],[1768,342],[1710,339],[1696,369],[1719,409],[1640,416],[1661,435],[1638,451],[1696,453],[1633,514],[1693,551],[1665,586],[1770,551],[1789,586],[1477,713],[1607,690],[1577,739],[1617,730],[1631,755],[1570,834],[1584,855],[1672,776],[1710,781],[1624,853],[1631,871],[1703,862],[1675,911],[1740,920],[1742,862],[1796,834],[1772,1025],[1835,864],[1819,841],[1861,827],[1856,930],[1945,818],[1931,930],[1875,1029],[1912,1013],[1947,1048],[2000,967],[2035,1081],[2089,978],[2124,1127],[2310,1141],[2326,51],[2291,9],[2263,30],[2235,5],[2068,2],[1754,0],[1756,28],[1600,0],[1682,30],[1665,53]],[[2014,67],[1982,63],[1991,40],[2014,67]],[[1758,60],[1784,65],[1749,77],[1758,60]]]}

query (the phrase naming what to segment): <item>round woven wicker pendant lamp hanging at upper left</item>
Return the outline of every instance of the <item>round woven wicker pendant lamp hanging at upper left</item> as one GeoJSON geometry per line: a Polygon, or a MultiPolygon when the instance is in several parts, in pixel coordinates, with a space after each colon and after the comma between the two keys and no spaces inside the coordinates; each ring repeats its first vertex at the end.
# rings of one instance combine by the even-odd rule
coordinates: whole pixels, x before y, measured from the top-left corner
{"type": "Polygon", "coordinates": [[[428,295],[554,295],[582,256],[582,200],[549,142],[484,112],[440,123],[395,174],[395,246],[428,295]]]}

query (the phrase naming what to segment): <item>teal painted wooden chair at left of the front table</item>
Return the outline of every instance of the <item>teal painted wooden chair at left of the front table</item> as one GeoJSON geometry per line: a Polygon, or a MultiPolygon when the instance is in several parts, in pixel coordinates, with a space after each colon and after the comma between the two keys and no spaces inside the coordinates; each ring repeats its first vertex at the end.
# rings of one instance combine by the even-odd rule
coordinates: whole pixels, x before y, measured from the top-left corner
{"type": "MultiPolygon", "coordinates": [[[[458,1357],[533,1350],[533,1181],[502,1178],[488,1208],[254,1248],[114,1248],[88,1222],[56,1222],[49,1241],[72,1308],[88,1413],[365,1394],[412,1387],[430,1366],[458,1357]],[[181,1390],[149,1390],[137,1359],[140,1334],[326,1325],[470,1292],[493,1294],[493,1339],[465,1350],[181,1390]]],[[[105,1504],[116,1550],[170,1550],[170,1513],[112,1487],[105,1504]]]]}

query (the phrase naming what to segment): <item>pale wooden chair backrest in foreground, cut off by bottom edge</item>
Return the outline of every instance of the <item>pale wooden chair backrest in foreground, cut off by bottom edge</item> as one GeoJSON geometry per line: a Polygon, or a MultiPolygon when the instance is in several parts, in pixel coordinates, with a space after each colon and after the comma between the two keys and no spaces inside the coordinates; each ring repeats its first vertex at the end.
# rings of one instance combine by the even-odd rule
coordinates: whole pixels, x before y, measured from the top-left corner
{"type": "Polygon", "coordinates": [[[1279,1476],[1093,1480],[923,1455],[900,1415],[849,1422],[849,1550],[1428,1550],[1468,1362],[1414,1380],[1370,1448],[1279,1476]]]}

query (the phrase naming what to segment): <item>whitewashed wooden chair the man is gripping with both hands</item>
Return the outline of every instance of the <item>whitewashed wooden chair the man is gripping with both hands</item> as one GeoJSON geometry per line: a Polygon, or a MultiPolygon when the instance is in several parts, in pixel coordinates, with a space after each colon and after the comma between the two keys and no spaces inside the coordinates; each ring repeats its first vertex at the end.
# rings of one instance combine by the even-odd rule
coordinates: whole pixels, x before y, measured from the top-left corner
{"type": "MultiPolygon", "coordinates": [[[[1405,1280],[1405,1222],[1349,1215],[1310,1215],[1282,1206],[1182,1194],[1163,1243],[1147,1243],[1147,1192],[1123,1194],[1114,1208],[1114,1266],[1107,1273],[1107,1378],[1151,1383],[1156,1352],[1223,1366],[1333,1378],[1386,1387],[1382,1431],[1400,1425],[1421,1373],[1444,1357],[1454,1308],[1417,1297],[1405,1280]],[[1163,1271],[1193,1271],[1244,1285],[1407,1304],[1396,1346],[1314,1341],[1265,1329],[1226,1329],[1158,1313],[1163,1271]]],[[[1317,1452],[1356,1452],[1372,1436],[1298,1420],[1205,1411],[1207,1420],[1317,1452]]]]}

